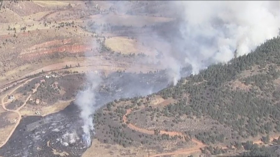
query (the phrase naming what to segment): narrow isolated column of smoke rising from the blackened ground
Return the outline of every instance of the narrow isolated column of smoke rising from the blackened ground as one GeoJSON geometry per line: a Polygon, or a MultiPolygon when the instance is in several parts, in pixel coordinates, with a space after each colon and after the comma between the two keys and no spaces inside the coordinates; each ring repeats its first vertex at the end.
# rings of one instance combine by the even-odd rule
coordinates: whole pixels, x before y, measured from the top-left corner
{"type": "Polygon", "coordinates": [[[77,94],[75,104],[81,110],[80,118],[83,122],[82,129],[84,132],[82,139],[89,147],[91,145],[91,131],[94,130],[93,114],[102,105],[96,104],[96,90],[98,90],[96,87],[100,84],[101,78],[98,74],[89,72],[87,81],[89,85],[84,91],[77,94]]]}

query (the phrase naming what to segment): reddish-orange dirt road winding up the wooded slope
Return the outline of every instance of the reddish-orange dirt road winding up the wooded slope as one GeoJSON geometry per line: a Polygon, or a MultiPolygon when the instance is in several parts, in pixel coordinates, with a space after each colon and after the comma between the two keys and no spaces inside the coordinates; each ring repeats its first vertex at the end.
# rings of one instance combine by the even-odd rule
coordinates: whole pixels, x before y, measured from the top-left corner
{"type": "MultiPolygon", "coordinates": [[[[158,102],[155,103],[155,105],[159,105],[160,103],[164,103],[164,100],[162,100],[162,101],[158,100],[158,102]]],[[[155,105],[151,105],[151,106],[155,106],[155,105]]],[[[140,107],[140,109],[142,109],[142,108],[145,108],[145,106],[140,107]]],[[[126,113],[123,116],[124,123],[127,122],[127,117],[126,116],[128,114],[130,114],[131,111],[132,111],[131,109],[126,110],[126,113]]],[[[143,128],[138,128],[137,126],[135,126],[135,125],[133,125],[131,123],[128,124],[128,127],[133,129],[133,130],[136,130],[138,132],[145,133],[145,134],[154,134],[155,133],[154,131],[151,131],[151,130],[147,130],[147,129],[143,129],[143,128]]],[[[181,132],[167,132],[167,131],[163,131],[163,130],[160,131],[160,134],[168,134],[169,136],[176,136],[176,135],[182,136],[182,137],[184,136],[181,132]]],[[[150,157],[156,157],[156,156],[162,156],[162,155],[179,155],[179,154],[188,155],[188,154],[200,151],[200,148],[205,146],[202,142],[200,142],[200,141],[198,141],[196,139],[192,139],[192,141],[196,144],[196,146],[191,147],[191,148],[187,148],[187,149],[183,149],[183,150],[177,150],[177,151],[170,152],[170,153],[156,154],[156,155],[152,155],[150,157]]]]}

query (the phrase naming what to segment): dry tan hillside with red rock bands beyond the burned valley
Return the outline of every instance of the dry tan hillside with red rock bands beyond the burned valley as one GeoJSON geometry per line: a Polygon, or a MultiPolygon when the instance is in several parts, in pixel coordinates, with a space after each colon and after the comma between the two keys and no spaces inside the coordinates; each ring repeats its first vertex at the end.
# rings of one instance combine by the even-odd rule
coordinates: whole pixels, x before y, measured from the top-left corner
{"type": "MultiPolygon", "coordinates": [[[[26,75],[35,74],[38,69],[57,70],[69,62],[81,64],[88,60],[85,58],[86,54],[96,56],[102,53],[102,66],[108,66],[102,63],[107,62],[110,57],[108,54],[114,52],[128,56],[133,53],[155,56],[155,46],[139,46],[136,36],[147,32],[142,28],[144,25],[173,20],[151,12],[155,9],[156,12],[162,12],[166,3],[128,2],[126,7],[131,7],[130,11],[135,13],[133,15],[118,14],[118,11],[122,12],[119,3],[121,2],[0,1],[1,87],[26,75]],[[146,7],[150,9],[146,10],[146,7]]],[[[110,66],[118,64],[119,69],[134,66],[113,57],[111,59],[110,66]],[[125,64],[126,66],[122,66],[125,64]]]]}

